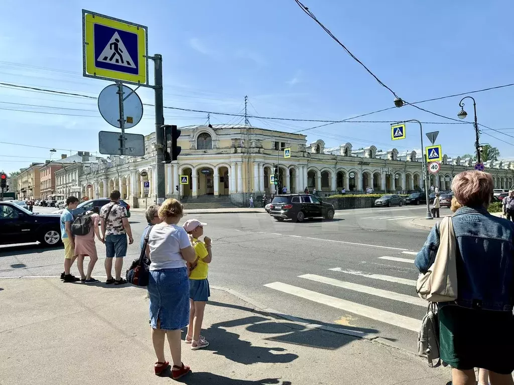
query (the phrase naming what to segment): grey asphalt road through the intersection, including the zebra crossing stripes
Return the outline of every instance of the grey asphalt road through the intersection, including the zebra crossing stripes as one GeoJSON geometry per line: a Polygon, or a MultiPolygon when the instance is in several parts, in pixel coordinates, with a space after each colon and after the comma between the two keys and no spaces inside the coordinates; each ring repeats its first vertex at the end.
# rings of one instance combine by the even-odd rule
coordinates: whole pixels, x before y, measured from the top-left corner
{"type": "MultiPolygon", "coordinates": [[[[332,221],[304,223],[277,222],[267,214],[196,218],[208,223],[205,235],[213,239],[211,285],[313,323],[416,351],[426,303],[415,294],[413,260],[428,230],[413,227],[410,220],[425,213],[424,206],[341,210],[332,221]]],[[[127,261],[139,256],[146,226],[142,213],[133,212],[130,222],[135,242],[127,261]]],[[[94,276],[101,278],[105,250],[97,246],[94,276]]],[[[57,276],[62,271],[62,247],[0,246],[0,277],[57,276]]],[[[77,274],[76,266],[72,273],[77,274]]]]}

